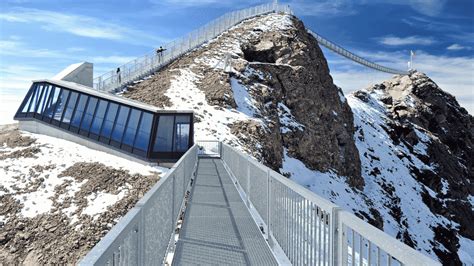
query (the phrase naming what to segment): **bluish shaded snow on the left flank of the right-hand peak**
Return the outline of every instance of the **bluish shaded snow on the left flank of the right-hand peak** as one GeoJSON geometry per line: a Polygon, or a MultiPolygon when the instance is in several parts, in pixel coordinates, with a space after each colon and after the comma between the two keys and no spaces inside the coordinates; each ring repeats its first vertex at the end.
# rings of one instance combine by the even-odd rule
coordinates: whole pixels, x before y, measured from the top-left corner
{"type": "MultiPolygon", "coordinates": [[[[429,241],[434,237],[432,228],[439,224],[453,223],[433,214],[425,205],[422,200],[423,190],[426,189],[435,197],[436,193],[418,182],[410,171],[411,168],[433,170],[432,166],[424,164],[411,154],[404,144],[393,143],[383,129],[387,127],[385,121],[388,117],[382,103],[377,100],[377,94],[371,94],[368,103],[352,95],[347,97],[347,100],[354,113],[354,124],[357,129],[355,141],[363,168],[362,175],[366,182],[364,194],[372,200],[375,209],[380,211],[384,220],[384,231],[396,236],[399,232],[408,230],[417,243],[417,249],[437,259],[432,251],[433,245],[429,241]],[[406,156],[400,159],[397,156],[399,154],[406,156]],[[375,168],[380,174],[373,174],[375,168]],[[393,187],[393,194],[396,200],[400,201],[397,205],[402,210],[401,223],[390,214],[390,208],[387,206],[393,206],[394,198],[382,185],[393,187]]],[[[416,145],[415,151],[426,154],[426,143],[430,141],[430,137],[421,131],[416,132],[421,141],[416,145]]],[[[356,204],[353,207],[359,209],[356,204]]]]}

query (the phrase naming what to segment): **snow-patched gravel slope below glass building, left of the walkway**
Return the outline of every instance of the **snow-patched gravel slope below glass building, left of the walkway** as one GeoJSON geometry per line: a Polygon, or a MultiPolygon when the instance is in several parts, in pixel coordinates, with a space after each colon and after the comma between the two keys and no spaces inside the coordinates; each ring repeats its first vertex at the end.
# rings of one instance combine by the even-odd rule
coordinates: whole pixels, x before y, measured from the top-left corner
{"type": "Polygon", "coordinates": [[[167,169],[0,126],[0,264],[75,263],[167,169]]]}

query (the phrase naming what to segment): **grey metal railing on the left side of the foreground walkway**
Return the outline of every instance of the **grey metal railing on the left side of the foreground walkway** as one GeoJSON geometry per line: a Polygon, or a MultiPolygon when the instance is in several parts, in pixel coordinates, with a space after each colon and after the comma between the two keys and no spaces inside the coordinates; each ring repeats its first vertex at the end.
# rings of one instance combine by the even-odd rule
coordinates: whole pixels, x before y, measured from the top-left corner
{"type": "Polygon", "coordinates": [[[162,264],[196,171],[197,149],[189,149],[79,265],[162,264]]]}

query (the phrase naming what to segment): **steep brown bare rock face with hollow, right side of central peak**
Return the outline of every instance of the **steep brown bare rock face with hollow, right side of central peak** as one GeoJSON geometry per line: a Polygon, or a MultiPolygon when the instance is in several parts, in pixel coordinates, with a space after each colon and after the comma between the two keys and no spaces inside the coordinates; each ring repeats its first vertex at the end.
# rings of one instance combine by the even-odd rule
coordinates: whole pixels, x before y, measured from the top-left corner
{"type": "Polygon", "coordinates": [[[293,18],[286,32],[265,32],[242,48],[250,65],[268,77],[273,91],[265,102],[283,103],[304,130],[282,134],[289,155],[319,171],[336,170],[361,189],[360,161],[354,145],[353,115],[316,40],[293,18]]]}

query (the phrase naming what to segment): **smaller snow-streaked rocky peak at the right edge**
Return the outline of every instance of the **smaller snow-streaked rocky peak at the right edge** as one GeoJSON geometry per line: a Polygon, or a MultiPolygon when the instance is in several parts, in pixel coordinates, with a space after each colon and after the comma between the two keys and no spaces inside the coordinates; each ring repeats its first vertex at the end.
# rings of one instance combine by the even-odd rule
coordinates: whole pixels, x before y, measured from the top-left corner
{"type": "Polygon", "coordinates": [[[356,122],[356,138],[359,152],[364,151],[362,165],[375,182],[386,187],[380,192],[390,199],[384,205],[392,209],[402,230],[397,237],[413,247],[428,244],[426,248],[445,264],[460,264],[463,258],[463,262],[469,261],[465,251],[472,259],[472,115],[419,72],[357,91],[350,99],[355,117],[361,118],[356,122]],[[377,143],[372,139],[374,135],[384,142],[377,143]],[[387,145],[392,153],[388,158],[387,145]],[[396,161],[401,162],[400,166],[392,168],[396,161]],[[398,180],[387,182],[386,177],[391,175],[398,180]],[[410,191],[416,193],[415,208],[409,206],[416,201],[397,195],[406,188],[393,186],[400,182],[406,186],[408,181],[416,185],[410,191]],[[420,215],[422,208],[428,216],[420,215]],[[428,229],[427,243],[417,236],[420,224],[428,229]]]}

